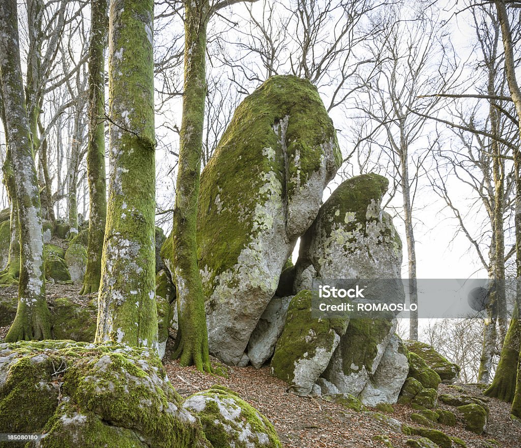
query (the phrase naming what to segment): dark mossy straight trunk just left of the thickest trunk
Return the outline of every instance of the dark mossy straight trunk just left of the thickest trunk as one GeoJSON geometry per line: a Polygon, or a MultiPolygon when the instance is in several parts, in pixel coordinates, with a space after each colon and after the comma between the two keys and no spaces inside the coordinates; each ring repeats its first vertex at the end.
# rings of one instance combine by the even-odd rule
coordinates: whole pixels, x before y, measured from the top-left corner
{"type": "Polygon", "coordinates": [[[108,2],[91,2],[91,42],[89,46],[89,246],[87,268],[80,294],[100,288],[101,259],[107,217],[105,182],[105,48],[107,46],[108,2]]]}

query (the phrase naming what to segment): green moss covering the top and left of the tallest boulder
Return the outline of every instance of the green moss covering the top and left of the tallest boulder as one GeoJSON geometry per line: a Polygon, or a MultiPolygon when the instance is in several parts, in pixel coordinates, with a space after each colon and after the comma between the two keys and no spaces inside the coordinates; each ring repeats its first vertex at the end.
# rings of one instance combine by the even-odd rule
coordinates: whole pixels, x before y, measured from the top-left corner
{"type": "Polygon", "coordinates": [[[274,194],[285,202],[302,194],[302,186],[322,169],[329,145],[336,164],[333,170],[328,167],[331,175],[342,161],[336,131],[317,89],[306,79],[271,77],[237,107],[201,176],[197,243],[201,267],[210,272],[207,295],[215,276],[237,264],[264,227],[252,219],[255,208],[274,194]],[[282,145],[276,129],[286,117],[282,145]],[[281,191],[263,188],[269,172],[281,191]]]}

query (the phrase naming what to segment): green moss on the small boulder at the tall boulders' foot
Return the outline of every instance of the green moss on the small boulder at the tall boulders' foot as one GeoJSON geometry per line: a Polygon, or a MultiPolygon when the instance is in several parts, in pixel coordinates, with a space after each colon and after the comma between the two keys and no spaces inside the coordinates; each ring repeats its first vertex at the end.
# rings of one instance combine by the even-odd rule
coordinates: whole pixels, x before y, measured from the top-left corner
{"type": "Polygon", "coordinates": [[[316,350],[331,351],[338,336],[328,318],[315,317],[312,312],[314,293],[300,291],[288,307],[286,324],[271,358],[271,374],[291,384],[295,366],[302,359],[312,358],[316,350]]]}

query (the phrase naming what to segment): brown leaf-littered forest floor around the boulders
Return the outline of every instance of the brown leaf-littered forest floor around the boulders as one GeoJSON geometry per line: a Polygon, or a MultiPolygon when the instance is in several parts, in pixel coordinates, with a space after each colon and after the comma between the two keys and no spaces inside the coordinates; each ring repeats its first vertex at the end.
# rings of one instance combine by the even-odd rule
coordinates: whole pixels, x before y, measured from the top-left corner
{"type": "MultiPolygon", "coordinates": [[[[51,313],[53,302],[58,297],[86,305],[96,294],[80,296],[81,285],[47,283],[47,302],[51,313]]],[[[2,297],[15,298],[16,287],[0,289],[2,297]]],[[[7,333],[9,326],[0,327],[0,338],[7,333]]],[[[163,364],[173,386],[182,397],[208,389],[214,384],[222,384],[237,392],[242,399],[256,407],[272,422],[284,448],[362,448],[386,447],[386,440],[394,448],[407,446],[408,437],[400,430],[401,424],[417,427],[410,418],[416,412],[408,405],[393,405],[394,411],[381,416],[377,409],[356,412],[346,409],[338,403],[332,403],[319,397],[308,398],[288,392],[288,385],[269,374],[269,367],[255,369],[248,367],[230,367],[229,377],[206,375],[194,367],[181,367],[177,360],[169,359],[173,340],[169,339],[163,364]],[[375,437],[383,436],[383,440],[375,437]]],[[[469,395],[480,396],[481,390],[472,384],[458,384],[469,395]]],[[[438,393],[452,393],[454,388],[440,384],[438,393]]],[[[490,408],[487,432],[476,435],[463,428],[462,421],[455,427],[438,425],[439,429],[451,437],[465,441],[468,448],[519,448],[521,447],[521,424],[510,419],[510,405],[499,400],[485,397],[490,408]],[[492,442],[494,441],[494,442],[492,442]]],[[[455,410],[454,407],[438,402],[442,409],[455,410]]]]}

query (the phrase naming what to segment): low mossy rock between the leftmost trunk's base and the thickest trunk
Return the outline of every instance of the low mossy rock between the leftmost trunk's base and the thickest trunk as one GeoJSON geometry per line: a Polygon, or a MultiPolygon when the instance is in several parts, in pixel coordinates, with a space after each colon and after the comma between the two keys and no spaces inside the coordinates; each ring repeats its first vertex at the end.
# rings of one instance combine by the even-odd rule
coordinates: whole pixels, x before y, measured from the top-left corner
{"type": "Polygon", "coordinates": [[[56,298],[51,306],[51,325],[55,339],[92,342],[96,333],[97,307],[73,302],[68,297],[56,298]]]}

